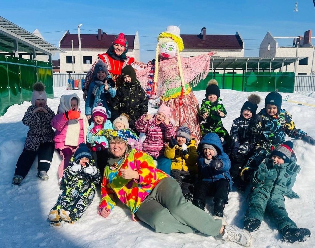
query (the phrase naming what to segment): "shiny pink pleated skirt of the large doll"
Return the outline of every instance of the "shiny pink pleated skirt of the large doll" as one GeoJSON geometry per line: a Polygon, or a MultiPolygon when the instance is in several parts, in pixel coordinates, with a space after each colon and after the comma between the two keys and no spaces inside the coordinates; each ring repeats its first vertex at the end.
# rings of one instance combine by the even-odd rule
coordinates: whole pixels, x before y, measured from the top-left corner
{"type": "Polygon", "coordinates": [[[183,96],[180,106],[180,97],[171,98],[169,101],[160,100],[158,106],[165,104],[171,108],[171,118],[175,120],[175,130],[186,123],[191,131],[191,136],[196,140],[196,145],[200,141],[200,126],[198,118],[199,103],[192,91],[183,96]]]}

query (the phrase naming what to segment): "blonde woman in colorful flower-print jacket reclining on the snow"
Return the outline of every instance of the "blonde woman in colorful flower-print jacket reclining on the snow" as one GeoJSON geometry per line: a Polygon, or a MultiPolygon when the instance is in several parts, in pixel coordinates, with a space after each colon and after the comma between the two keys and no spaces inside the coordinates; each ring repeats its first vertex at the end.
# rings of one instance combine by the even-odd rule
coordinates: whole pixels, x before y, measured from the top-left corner
{"type": "Polygon", "coordinates": [[[145,152],[130,149],[123,130],[108,133],[108,166],[104,170],[101,186],[102,199],[99,214],[106,218],[113,211],[118,198],[141,221],[160,233],[201,233],[250,246],[248,231],[235,226],[222,225],[221,219],[186,201],[179,184],[154,166],[153,158],[145,152]]]}

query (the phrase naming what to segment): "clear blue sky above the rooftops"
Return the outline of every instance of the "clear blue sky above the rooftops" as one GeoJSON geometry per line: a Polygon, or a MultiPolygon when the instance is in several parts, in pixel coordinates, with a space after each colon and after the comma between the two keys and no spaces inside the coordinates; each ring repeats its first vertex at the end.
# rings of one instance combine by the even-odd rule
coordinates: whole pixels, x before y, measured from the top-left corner
{"type": "MultiPolygon", "coordinates": [[[[311,29],[315,36],[313,1],[299,0],[299,11],[293,12],[295,2],[14,0],[2,1],[0,16],[30,32],[38,29],[55,46],[65,32],[62,30],[77,33],[80,23],[82,34],[96,34],[99,28],[108,34],[138,31],[140,60],[147,62],[155,56],[157,35],[168,25],[180,25],[181,34],[199,34],[202,27],[207,28],[207,34],[238,31],[245,42],[245,56],[259,55],[259,45],[267,31],[273,36],[304,36],[304,31],[311,29]]],[[[281,46],[292,45],[292,39],[278,42],[281,46]]]]}

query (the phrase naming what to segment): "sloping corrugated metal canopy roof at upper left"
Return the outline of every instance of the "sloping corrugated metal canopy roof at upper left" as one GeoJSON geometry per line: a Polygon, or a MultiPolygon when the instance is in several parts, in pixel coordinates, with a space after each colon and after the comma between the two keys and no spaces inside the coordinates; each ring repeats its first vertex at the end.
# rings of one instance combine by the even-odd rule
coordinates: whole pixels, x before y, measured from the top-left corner
{"type": "Polygon", "coordinates": [[[19,51],[30,54],[33,53],[33,49],[47,55],[64,52],[0,16],[0,51],[14,53],[16,41],[19,51]]]}

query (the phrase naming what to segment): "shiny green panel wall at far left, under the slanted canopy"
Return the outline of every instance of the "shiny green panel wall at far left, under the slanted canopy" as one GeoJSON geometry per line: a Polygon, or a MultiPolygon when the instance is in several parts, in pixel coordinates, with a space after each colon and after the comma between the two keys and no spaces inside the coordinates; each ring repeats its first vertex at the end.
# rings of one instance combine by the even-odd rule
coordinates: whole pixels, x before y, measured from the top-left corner
{"type": "Polygon", "coordinates": [[[54,98],[52,64],[0,55],[0,115],[14,104],[31,101],[32,86],[43,82],[48,98],[54,98]]]}

